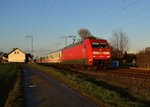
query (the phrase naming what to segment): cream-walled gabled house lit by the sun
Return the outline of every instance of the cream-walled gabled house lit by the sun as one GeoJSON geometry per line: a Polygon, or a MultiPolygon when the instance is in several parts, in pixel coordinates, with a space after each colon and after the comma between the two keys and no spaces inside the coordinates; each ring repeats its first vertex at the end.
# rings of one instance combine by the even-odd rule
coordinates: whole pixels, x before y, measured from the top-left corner
{"type": "Polygon", "coordinates": [[[18,48],[8,53],[8,62],[25,62],[26,54],[18,48]]]}

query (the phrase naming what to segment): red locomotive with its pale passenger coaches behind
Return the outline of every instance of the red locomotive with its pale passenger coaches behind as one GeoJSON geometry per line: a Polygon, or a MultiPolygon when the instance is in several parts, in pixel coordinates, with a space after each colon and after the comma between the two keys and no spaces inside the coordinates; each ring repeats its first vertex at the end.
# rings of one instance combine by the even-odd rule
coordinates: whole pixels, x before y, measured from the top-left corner
{"type": "MultiPolygon", "coordinates": [[[[110,56],[107,40],[89,37],[82,42],[48,54],[43,58],[43,62],[100,67],[105,66],[110,56]]],[[[39,62],[42,60],[40,59],[39,62]]]]}

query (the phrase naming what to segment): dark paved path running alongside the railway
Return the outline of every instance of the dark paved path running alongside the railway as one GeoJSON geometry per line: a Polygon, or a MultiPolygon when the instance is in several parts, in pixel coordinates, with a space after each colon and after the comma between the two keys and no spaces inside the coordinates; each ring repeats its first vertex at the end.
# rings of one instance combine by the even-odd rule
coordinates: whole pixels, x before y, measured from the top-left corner
{"type": "Polygon", "coordinates": [[[43,72],[23,66],[27,107],[97,107],[43,72]]]}

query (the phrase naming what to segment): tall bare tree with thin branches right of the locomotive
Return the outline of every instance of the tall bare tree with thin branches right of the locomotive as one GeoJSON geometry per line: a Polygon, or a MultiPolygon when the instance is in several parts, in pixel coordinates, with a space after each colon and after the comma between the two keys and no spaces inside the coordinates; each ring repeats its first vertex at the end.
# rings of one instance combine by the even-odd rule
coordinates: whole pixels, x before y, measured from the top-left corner
{"type": "Polygon", "coordinates": [[[110,44],[114,51],[117,52],[117,57],[122,58],[123,53],[129,48],[129,38],[125,32],[116,29],[113,30],[110,44]]]}

